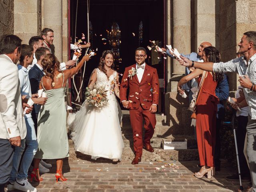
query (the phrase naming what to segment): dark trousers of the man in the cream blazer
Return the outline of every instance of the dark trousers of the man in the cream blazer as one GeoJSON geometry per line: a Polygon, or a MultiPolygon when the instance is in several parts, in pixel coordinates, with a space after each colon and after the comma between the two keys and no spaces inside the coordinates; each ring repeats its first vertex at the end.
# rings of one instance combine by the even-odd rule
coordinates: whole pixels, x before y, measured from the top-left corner
{"type": "Polygon", "coordinates": [[[13,155],[14,146],[8,139],[0,139],[0,192],[4,192],[4,185],[10,178],[13,155]]]}

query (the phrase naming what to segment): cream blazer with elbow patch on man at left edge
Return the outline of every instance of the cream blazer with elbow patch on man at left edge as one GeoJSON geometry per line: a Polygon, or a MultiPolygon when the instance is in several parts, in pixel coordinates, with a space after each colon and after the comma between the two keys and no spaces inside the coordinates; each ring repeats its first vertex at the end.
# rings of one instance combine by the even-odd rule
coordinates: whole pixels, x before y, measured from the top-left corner
{"type": "Polygon", "coordinates": [[[0,55],[0,138],[26,137],[18,67],[5,54],[0,55]]]}

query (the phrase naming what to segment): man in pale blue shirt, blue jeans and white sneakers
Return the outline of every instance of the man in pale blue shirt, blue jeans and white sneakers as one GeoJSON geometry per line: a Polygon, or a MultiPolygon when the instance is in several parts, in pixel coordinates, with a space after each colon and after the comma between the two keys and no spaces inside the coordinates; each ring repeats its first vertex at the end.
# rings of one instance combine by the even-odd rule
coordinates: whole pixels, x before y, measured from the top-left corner
{"type": "MultiPolygon", "coordinates": [[[[18,64],[18,75],[20,80],[20,89],[22,98],[32,98],[35,104],[44,104],[47,98],[36,98],[38,95],[31,94],[30,82],[27,73],[27,67],[32,64],[33,61],[33,48],[29,45],[22,44],[21,45],[21,56],[20,56],[20,64],[18,64]]],[[[14,158],[13,158],[13,166],[12,172],[9,180],[9,184],[7,185],[7,190],[12,191],[14,189],[22,190],[22,191],[30,191],[36,192],[36,188],[34,188],[28,182],[28,168],[36,154],[38,149],[38,142],[36,138],[36,132],[34,128],[34,122],[32,120],[31,114],[25,114],[25,122],[26,122],[26,138],[21,140],[21,146],[15,148],[14,158]],[[26,142],[26,149],[25,149],[26,142]],[[24,151],[25,149],[25,151],[24,151]],[[24,152],[24,154],[23,154],[24,152]],[[23,156],[22,156],[23,154],[23,156]],[[22,160],[21,160],[22,157],[22,160]],[[20,163],[21,160],[21,163],[20,163]],[[20,170],[18,171],[18,165],[20,164],[20,170]]]]}

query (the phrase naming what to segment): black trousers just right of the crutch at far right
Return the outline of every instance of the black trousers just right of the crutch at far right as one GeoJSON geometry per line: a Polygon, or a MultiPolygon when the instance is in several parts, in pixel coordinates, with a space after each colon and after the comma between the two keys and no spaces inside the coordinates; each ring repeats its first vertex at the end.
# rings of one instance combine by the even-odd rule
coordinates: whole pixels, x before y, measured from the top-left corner
{"type": "Polygon", "coordinates": [[[248,116],[238,116],[237,118],[237,130],[236,130],[236,140],[238,148],[239,164],[242,176],[250,177],[250,170],[244,156],[244,140],[246,136],[246,126],[248,123],[248,116]]]}

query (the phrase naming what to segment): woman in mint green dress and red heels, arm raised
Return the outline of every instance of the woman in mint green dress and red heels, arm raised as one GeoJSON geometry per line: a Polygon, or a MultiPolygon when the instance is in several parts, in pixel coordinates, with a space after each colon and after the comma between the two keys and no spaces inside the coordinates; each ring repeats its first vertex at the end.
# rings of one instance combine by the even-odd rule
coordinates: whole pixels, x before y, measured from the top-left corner
{"type": "Polygon", "coordinates": [[[34,169],[31,179],[42,181],[38,166],[41,159],[56,159],[56,182],[66,181],[62,174],[63,158],[68,157],[68,135],[66,129],[65,91],[66,81],[83,66],[89,56],[84,56],[78,65],[69,70],[60,70],[60,62],[53,54],[42,59],[46,75],[42,77],[39,88],[44,89],[48,100],[38,114],[38,151],[34,156],[34,169]]]}

